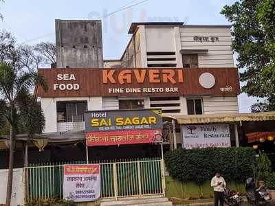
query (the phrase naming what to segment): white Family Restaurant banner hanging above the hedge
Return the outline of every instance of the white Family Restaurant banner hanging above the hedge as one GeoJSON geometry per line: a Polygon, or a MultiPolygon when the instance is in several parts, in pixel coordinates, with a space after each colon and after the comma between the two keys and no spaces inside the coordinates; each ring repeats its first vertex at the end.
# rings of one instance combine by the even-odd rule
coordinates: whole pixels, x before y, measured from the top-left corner
{"type": "Polygon", "coordinates": [[[182,126],[184,148],[230,147],[228,124],[182,126]]]}

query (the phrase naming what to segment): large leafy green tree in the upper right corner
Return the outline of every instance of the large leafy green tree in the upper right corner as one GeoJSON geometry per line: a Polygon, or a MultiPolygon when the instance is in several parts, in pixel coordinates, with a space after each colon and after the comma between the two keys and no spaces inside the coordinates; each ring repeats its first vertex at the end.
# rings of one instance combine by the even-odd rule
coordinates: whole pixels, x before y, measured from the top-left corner
{"type": "Polygon", "coordinates": [[[237,1],[221,14],[233,25],[232,49],[239,54],[238,67],[245,68],[240,73],[243,92],[265,99],[252,111],[275,110],[275,1],[237,1]]]}

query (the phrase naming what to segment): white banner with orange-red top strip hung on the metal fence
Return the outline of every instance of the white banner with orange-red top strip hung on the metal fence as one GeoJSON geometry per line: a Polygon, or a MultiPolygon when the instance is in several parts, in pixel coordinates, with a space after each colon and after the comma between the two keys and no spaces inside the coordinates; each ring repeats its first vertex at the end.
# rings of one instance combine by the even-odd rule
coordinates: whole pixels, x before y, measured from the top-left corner
{"type": "Polygon", "coordinates": [[[100,197],[100,165],[64,165],[63,197],[74,202],[100,197]]]}

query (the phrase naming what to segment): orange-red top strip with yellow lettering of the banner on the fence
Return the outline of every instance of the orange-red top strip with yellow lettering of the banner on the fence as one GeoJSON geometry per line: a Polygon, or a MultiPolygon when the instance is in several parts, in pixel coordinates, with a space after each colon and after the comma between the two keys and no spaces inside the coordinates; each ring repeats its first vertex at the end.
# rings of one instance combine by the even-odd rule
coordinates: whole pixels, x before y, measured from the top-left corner
{"type": "Polygon", "coordinates": [[[99,174],[99,165],[64,165],[65,174],[99,174]]]}

